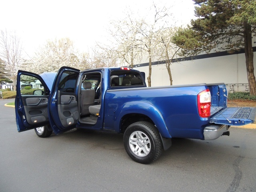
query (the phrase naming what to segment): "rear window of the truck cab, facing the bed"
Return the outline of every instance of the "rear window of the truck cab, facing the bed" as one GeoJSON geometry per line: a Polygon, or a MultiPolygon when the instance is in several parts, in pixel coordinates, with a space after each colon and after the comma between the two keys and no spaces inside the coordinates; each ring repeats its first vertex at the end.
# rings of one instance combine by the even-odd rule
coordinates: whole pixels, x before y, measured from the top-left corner
{"type": "Polygon", "coordinates": [[[136,71],[115,70],[110,73],[110,85],[115,86],[144,86],[142,76],[136,71]]]}

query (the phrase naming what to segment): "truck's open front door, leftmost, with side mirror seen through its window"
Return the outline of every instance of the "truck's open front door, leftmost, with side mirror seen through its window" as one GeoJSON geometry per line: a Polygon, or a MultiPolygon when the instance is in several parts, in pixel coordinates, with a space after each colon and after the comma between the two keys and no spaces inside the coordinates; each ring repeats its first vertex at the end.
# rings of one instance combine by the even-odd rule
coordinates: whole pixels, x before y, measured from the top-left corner
{"type": "Polygon", "coordinates": [[[22,70],[18,71],[15,98],[18,132],[49,124],[49,95],[50,90],[41,76],[22,70]]]}

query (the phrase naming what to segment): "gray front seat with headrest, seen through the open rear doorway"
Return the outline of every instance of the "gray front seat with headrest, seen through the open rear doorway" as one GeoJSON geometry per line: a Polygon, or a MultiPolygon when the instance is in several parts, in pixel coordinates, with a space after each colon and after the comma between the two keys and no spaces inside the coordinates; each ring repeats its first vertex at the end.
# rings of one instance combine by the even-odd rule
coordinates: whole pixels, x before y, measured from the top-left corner
{"type": "Polygon", "coordinates": [[[88,81],[83,82],[84,90],[81,90],[81,115],[88,115],[89,107],[94,105],[95,90],[91,89],[92,84],[88,81]]]}

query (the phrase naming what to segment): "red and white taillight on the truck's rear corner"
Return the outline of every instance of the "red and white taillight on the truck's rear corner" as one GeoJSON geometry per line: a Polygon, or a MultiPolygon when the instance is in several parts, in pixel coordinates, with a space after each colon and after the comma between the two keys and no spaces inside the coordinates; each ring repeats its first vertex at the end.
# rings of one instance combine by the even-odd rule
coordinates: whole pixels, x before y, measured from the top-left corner
{"type": "Polygon", "coordinates": [[[206,89],[197,95],[197,107],[200,117],[210,117],[211,93],[209,89],[206,89]]]}

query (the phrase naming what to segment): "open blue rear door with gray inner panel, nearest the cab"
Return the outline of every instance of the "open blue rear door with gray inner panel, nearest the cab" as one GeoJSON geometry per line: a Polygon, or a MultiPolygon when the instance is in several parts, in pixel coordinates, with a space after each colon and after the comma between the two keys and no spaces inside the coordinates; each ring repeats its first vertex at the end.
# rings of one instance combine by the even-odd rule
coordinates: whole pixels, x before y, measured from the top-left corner
{"type": "Polygon", "coordinates": [[[62,67],[54,80],[50,94],[49,120],[55,134],[74,128],[78,122],[78,88],[79,71],[62,67]]]}

